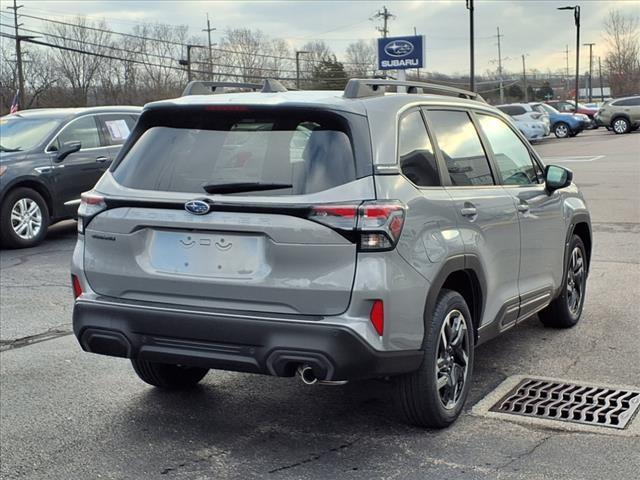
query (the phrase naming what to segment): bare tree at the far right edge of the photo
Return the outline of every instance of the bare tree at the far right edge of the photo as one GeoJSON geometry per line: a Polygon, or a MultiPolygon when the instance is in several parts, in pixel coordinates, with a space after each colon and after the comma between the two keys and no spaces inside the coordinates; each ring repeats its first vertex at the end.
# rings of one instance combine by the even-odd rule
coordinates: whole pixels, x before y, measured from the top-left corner
{"type": "Polygon", "coordinates": [[[605,21],[605,39],[609,52],[605,68],[609,85],[616,96],[640,92],[640,32],[638,16],[611,10],[605,21]]]}

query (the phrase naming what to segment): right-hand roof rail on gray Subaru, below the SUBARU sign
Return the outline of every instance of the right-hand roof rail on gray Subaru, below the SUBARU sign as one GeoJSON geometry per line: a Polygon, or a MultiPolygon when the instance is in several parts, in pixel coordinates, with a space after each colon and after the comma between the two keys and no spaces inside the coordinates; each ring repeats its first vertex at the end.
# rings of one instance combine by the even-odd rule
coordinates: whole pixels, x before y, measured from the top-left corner
{"type": "Polygon", "coordinates": [[[404,80],[384,80],[378,78],[353,78],[349,80],[344,89],[345,98],[365,98],[384,95],[386,88],[380,87],[406,87],[407,93],[432,93],[447,95],[450,97],[467,98],[486,103],[482,96],[469,90],[447,87],[436,83],[410,82],[404,80]]]}

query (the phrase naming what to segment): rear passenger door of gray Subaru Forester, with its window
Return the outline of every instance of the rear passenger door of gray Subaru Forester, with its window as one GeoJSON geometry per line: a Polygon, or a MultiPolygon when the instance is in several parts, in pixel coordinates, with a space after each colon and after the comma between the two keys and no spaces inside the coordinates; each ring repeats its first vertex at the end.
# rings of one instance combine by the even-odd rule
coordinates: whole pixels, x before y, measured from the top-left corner
{"type": "Polygon", "coordinates": [[[427,110],[430,131],[448,172],[449,195],[466,253],[481,266],[486,284],[484,323],[506,328],[518,310],[520,228],[513,198],[494,181],[488,156],[469,113],[427,110]]]}

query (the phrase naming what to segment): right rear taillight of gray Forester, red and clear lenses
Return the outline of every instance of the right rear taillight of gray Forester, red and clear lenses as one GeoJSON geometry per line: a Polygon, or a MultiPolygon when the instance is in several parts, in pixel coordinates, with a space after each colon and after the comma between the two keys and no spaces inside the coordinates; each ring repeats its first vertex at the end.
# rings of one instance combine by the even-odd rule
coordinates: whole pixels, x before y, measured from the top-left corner
{"type": "Polygon", "coordinates": [[[311,208],[309,219],[336,230],[358,235],[360,250],[395,248],[402,233],[406,206],[399,201],[334,204],[311,208]]]}

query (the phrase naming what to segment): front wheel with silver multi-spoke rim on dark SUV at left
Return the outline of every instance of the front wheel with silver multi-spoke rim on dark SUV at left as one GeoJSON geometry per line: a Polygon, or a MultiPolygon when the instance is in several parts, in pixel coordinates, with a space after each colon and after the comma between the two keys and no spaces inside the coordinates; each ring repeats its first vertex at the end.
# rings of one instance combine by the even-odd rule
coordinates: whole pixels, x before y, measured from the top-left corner
{"type": "Polygon", "coordinates": [[[10,191],[0,207],[0,240],[9,248],[35,247],[47,236],[49,209],[30,188],[10,191]]]}

